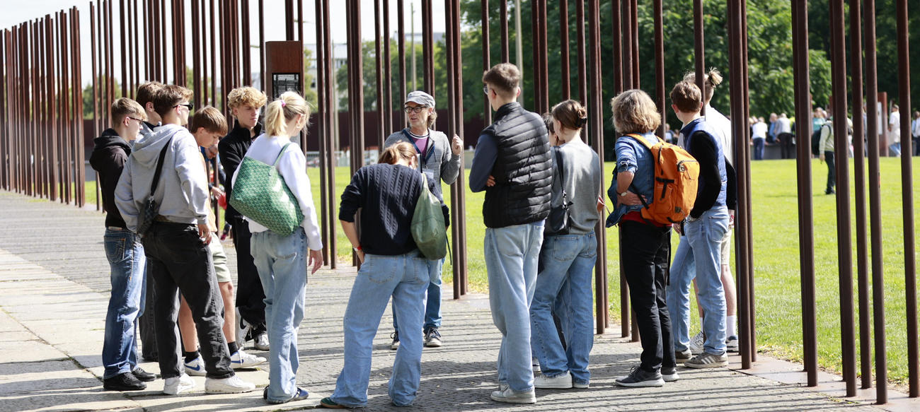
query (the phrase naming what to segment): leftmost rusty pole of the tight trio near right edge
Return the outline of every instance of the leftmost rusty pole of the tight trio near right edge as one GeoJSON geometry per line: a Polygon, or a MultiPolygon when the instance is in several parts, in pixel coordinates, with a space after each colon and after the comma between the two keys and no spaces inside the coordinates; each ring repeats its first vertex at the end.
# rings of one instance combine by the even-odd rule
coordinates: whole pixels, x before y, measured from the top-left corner
{"type": "Polygon", "coordinates": [[[831,0],[831,68],[834,88],[834,157],[837,177],[837,262],[840,280],[842,363],[846,396],[857,395],[855,333],[853,325],[853,268],[850,246],[849,158],[846,125],[846,51],[844,1],[831,0]]]}

